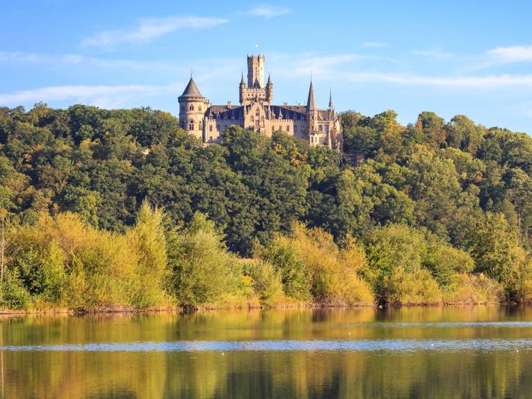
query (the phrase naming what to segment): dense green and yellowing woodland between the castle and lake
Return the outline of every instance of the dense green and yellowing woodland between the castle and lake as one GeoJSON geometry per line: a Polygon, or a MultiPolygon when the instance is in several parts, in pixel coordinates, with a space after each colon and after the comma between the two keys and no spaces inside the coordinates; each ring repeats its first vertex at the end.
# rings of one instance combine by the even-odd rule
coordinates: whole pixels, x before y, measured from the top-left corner
{"type": "Polygon", "coordinates": [[[532,138],[341,115],[341,154],[150,108],[0,108],[0,306],[532,299],[532,138]]]}

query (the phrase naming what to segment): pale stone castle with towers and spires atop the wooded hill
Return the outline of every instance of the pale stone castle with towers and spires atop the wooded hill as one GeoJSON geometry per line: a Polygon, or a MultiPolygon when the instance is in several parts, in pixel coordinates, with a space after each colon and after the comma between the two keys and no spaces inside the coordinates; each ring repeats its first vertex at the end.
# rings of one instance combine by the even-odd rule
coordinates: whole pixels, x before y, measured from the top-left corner
{"type": "Polygon", "coordinates": [[[248,56],[248,83],[244,75],[239,85],[240,105],[211,105],[194,79],[179,97],[179,123],[205,144],[220,142],[220,133],[232,124],[271,136],[284,131],[306,140],[309,145],[325,145],[341,150],[339,117],[329,98],[327,109],[319,109],[314,99],[312,79],[307,105],[273,105],[273,83],[268,75],[264,84],[264,56],[248,56]]]}

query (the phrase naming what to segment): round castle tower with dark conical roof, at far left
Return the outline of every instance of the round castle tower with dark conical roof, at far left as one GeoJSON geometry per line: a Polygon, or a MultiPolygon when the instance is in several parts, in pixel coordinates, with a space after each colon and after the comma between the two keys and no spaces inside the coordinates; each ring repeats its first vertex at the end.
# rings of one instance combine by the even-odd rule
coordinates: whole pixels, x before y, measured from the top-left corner
{"type": "Polygon", "coordinates": [[[201,95],[192,75],[178,101],[179,124],[188,133],[203,140],[204,115],[205,111],[207,111],[207,106],[209,106],[209,100],[201,95]]]}

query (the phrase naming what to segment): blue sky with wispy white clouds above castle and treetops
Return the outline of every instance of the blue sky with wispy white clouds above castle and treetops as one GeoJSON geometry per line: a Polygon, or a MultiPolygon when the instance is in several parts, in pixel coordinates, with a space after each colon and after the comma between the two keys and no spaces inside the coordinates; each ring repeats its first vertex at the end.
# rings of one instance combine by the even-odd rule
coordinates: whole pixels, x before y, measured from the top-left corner
{"type": "Polygon", "coordinates": [[[463,114],[532,133],[530,1],[0,0],[0,106],[150,106],[177,115],[191,68],[238,101],[266,55],[275,103],[463,114]],[[257,45],[259,46],[257,48],[257,45]]]}

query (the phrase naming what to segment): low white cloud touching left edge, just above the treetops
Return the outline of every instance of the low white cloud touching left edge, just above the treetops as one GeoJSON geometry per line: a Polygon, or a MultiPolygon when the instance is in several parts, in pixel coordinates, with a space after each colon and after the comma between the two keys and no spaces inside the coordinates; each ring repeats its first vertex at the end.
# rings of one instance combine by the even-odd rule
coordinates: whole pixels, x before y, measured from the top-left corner
{"type": "Polygon", "coordinates": [[[165,88],[156,86],[51,86],[12,93],[0,93],[0,104],[12,106],[36,103],[39,101],[74,100],[85,104],[100,105],[114,101],[115,106],[124,103],[125,99],[138,95],[156,95],[165,88]],[[119,100],[120,101],[117,101],[119,100]]]}

